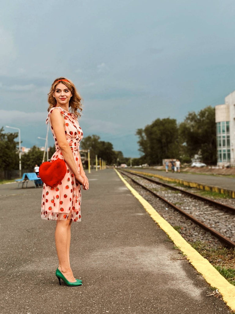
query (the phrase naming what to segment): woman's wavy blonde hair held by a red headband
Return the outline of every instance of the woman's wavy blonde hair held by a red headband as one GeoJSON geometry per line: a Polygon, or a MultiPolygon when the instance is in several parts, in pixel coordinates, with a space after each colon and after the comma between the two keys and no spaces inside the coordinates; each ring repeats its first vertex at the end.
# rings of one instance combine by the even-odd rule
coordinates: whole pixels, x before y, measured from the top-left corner
{"type": "Polygon", "coordinates": [[[55,92],[56,85],[59,83],[63,83],[64,85],[66,85],[68,87],[68,89],[70,90],[70,92],[72,93],[72,96],[71,96],[70,101],[69,101],[69,107],[71,108],[71,113],[80,117],[81,111],[82,111],[81,96],[77,92],[76,87],[73,84],[73,82],[71,82],[69,79],[63,78],[63,77],[56,78],[55,81],[51,85],[51,89],[50,89],[50,92],[48,94],[49,107],[48,107],[47,111],[50,111],[51,108],[54,108],[57,105],[55,97],[53,97],[53,94],[55,92]],[[68,82],[60,81],[61,79],[66,79],[68,82]],[[79,110],[80,112],[78,112],[77,110],[79,110]]]}

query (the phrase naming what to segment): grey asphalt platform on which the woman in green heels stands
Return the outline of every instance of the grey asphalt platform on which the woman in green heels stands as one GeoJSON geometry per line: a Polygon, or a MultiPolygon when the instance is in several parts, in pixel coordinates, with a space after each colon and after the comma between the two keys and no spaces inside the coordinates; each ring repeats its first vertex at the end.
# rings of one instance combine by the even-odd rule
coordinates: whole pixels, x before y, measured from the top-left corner
{"type": "MultiPolygon", "coordinates": [[[[213,289],[194,268],[199,263],[200,273],[208,273],[209,262],[194,249],[194,267],[182,259],[169,236],[183,252],[191,246],[115,170],[93,170],[88,178],[82,221],[71,230],[71,267],[83,279],[80,287],[60,286],[55,277],[55,221],[40,218],[42,190],[0,185],[1,313],[231,313],[223,300],[207,296],[213,289]]],[[[216,270],[211,279],[235,310],[235,287],[216,270]]]]}

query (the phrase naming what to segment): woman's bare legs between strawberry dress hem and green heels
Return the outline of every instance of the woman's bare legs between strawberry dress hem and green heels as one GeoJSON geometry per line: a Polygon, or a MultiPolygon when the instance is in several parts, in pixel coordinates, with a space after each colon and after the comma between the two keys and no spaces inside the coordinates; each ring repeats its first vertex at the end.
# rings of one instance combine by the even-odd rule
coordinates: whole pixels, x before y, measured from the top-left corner
{"type": "Polygon", "coordinates": [[[68,233],[70,234],[70,219],[67,220],[57,220],[55,228],[55,245],[56,251],[59,259],[59,270],[67,280],[70,282],[75,282],[72,270],[70,268],[68,259],[68,233]]]}

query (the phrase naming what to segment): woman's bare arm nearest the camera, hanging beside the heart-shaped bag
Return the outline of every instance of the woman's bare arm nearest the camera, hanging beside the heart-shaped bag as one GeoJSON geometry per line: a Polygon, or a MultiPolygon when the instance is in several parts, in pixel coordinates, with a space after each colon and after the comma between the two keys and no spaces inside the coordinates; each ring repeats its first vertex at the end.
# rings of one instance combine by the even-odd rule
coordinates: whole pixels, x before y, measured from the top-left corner
{"type": "Polygon", "coordinates": [[[61,115],[60,110],[53,110],[50,114],[50,123],[53,127],[55,137],[57,139],[60,151],[63,154],[64,160],[68,164],[69,168],[73,172],[76,180],[81,184],[84,183],[84,179],[80,176],[79,170],[77,169],[74,161],[73,153],[66,140],[65,129],[64,129],[64,117],[61,115]]]}

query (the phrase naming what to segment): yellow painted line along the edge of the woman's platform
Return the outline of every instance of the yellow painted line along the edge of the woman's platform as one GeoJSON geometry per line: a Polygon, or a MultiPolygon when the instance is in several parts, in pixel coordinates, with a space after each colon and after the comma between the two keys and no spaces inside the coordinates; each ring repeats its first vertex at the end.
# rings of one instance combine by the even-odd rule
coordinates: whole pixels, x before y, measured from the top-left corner
{"type": "Polygon", "coordinates": [[[186,255],[189,262],[202,274],[203,278],[212,287],[215,287],[222,294],[223,300],[233,311],[235,311],[235,286],[230,284],[209,262],[202,257],[180,234],[164,219],[158,212],[130,186],[130,184],[114,169],[126,187],[138,199],[152,219],[164,230],[176,246],[186,255]]]}

